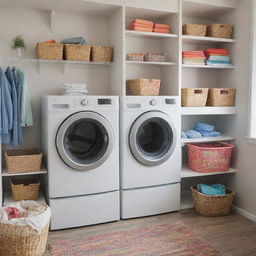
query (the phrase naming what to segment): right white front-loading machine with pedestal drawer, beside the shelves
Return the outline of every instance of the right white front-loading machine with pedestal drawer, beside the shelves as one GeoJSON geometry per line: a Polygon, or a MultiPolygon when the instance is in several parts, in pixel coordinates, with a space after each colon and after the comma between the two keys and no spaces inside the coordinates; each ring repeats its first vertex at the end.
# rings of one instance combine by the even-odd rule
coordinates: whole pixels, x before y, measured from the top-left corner
{"type": "Polygon", "coordinates": [[[121,218],[180,208],[178,97],[121,98],[121,218]]]}

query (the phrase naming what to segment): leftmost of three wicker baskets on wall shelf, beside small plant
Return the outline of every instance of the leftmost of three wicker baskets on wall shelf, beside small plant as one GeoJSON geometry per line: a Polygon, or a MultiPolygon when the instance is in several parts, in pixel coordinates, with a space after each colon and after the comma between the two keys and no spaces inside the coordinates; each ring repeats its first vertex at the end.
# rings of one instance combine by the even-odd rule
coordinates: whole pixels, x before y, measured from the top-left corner
{"type": "Polygon", "coordinates": [[[39,59],[62,60],[63,44],[61,43],[37,43],[37,57],[39,59]]]}

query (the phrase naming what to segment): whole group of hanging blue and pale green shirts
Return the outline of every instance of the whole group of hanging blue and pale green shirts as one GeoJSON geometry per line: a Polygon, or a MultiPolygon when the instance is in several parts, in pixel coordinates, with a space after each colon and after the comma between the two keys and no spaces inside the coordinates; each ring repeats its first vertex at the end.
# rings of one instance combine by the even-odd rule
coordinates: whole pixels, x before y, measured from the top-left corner
{"type": "Polygon", "coordinates": [[[3,144],[18,146],[23,141],[22,127],[33,125],[30,92],[21,69],[0,67],[0,135],[3,144]]]}

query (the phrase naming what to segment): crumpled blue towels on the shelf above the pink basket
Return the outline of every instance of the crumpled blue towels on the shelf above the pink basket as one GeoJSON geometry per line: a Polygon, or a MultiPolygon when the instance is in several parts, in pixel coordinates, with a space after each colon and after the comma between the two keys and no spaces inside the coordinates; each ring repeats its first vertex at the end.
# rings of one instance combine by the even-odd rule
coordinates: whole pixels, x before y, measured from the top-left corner
{"type": "Polygon", "coordinates": [[[196,123],[193,130],[181,133],[181,138],[197,139],[202,137],[218,137],[221,133],[215,131],[215,126],[206,123],[196,123]]]}

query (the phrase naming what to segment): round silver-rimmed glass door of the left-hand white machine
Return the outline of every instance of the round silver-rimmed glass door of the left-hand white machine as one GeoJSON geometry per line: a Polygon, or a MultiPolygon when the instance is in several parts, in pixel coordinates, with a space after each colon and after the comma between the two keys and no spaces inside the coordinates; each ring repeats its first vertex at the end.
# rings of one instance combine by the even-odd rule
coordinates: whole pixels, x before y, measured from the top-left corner
{"type": "Polygon", "coordinates": [[[101,165],[113,147],[109,122],[95,112],[78,112],[59,127],[56,147],[60,158],[71,168],[87,171],[101,165]]]}

